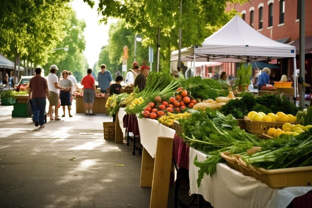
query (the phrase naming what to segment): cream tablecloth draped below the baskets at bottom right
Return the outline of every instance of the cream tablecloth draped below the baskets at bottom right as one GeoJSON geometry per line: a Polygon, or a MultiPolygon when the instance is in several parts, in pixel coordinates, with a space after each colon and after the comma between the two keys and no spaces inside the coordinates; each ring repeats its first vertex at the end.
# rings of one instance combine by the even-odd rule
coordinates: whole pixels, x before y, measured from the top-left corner
{"type": "Polygon", "coordinates": [[[199,168],[193,164],[196,155],[198,161],[207,157],[193,148],[189,150],[189,194],[202,195],[214,208],[286,208],[294,198],[312,190],[312,187],[272,189],[222,163],[217,165],[217,172],[212,177],[204,175],[198,188],[199,168]]]}

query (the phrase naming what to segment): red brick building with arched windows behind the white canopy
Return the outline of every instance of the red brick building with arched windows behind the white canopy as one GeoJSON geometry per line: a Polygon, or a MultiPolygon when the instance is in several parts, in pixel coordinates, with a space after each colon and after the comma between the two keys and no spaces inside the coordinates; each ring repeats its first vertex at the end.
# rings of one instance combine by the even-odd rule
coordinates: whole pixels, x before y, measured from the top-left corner
{"type": "MultiPolygon", "coordinates": [[[[250,3],[229,5],[227,10],[236,9],[243,19],[257,31],[282,43],[292,44],[297,50],[299,68],[299,0],[250,0],[250,3]]],[[[306,82],[312,84],[312,0],[305,1],[306,36],[306,82]]],[[[279,80],[282,74],[293,75],[293,60],[278,59],[281,69],[271,70],[272,81],[279,80]]],[[[232,67],[224,65],[224,70],[233,73],[232,67]]]]}

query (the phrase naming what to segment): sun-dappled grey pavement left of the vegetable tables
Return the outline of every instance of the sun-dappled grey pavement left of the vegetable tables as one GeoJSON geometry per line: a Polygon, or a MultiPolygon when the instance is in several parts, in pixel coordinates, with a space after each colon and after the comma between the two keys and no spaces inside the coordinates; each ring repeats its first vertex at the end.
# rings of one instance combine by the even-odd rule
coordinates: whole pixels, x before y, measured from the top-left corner
{"type": "Polygon", "coordinates": [[[0,208],[149,207],[141,155],[132,155],[132,143],[103,139],[109,116],[76,114],[73,103],[72,118],[48,117],[39,129],[30,118],[11,118],[12,110],[0,106],[0,208]]]}

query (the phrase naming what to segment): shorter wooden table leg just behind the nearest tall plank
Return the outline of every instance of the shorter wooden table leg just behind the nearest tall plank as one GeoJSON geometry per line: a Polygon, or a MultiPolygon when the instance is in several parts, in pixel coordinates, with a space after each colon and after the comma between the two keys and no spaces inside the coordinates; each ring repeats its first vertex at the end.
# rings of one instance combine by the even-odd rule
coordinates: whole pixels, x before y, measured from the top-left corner
{"type": "Polygon", "coordinates": [[[155,159],[143,148],[141,164],[141,187],[152,187],[155,159]]]}

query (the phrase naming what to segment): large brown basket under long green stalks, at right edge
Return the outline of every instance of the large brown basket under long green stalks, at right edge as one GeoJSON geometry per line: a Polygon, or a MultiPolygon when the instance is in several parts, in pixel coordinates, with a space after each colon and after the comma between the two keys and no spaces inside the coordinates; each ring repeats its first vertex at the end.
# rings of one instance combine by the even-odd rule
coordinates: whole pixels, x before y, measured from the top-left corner
{"type": "Polygon", "coordinates": [[[251,167],[254,177],[271,188],[311,186],[312,166],[266,170],[251,167]]]}

